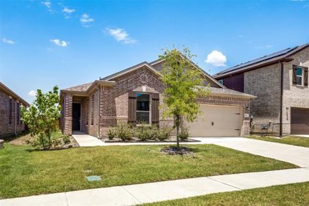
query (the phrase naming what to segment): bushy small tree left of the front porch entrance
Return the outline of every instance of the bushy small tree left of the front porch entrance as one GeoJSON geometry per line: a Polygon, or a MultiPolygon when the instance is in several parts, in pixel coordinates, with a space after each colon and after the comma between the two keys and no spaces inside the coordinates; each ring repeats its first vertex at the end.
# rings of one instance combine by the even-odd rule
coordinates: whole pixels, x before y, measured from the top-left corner
{"type": "Polygon", "coordinates": [[[36,137],[36,145],[43,148],[52,146],[52,133],[58,130],[61,106],[59,103],[58,87],[53,91],[42,93],[37,90],[36,100],[29,109],[21,108],[21,117],[27,124],[32,137],[36,137]]]}

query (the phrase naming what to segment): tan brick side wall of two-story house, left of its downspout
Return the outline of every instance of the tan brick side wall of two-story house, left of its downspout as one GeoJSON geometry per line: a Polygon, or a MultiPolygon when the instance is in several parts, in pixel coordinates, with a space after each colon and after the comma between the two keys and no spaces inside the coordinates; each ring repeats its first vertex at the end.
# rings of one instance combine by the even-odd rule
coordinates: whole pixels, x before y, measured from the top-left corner
{"type": "Polygon", "coordinates": [[[251,100],[253,133],[260,133],[262,124],[270,121],[269,131],[279,132],[280,75],[279,63],[244,73],[244,93],[258,97],[251,100]]]}

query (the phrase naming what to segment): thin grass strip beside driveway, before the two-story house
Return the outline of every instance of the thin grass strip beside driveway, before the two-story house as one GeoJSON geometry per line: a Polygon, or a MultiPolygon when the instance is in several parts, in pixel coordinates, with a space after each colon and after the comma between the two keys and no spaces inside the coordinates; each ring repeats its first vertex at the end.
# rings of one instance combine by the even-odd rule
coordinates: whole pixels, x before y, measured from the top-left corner
{"type": "Polygon", "coordinates": [[[301,146],[301,147],[306,147],[309,148],[309,138],[307,137],[297,137],[297,136],[286,136],[282,138],[278,137],[260,137],[257,135],[251,135],[251,136],[245,136],[250,139],[259,139],[259,140],[264,140],[264,141],[273,141],[273,142],[278,142],[278,143],[283,143],[283,144],[291,144],[294,146],[301,146]]]}

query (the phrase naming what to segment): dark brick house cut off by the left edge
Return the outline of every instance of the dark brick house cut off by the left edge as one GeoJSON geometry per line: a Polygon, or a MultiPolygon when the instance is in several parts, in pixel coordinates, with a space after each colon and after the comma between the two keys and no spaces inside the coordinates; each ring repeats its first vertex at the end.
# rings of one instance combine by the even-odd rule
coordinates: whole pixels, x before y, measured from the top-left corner
{"type": "Polygon", "coordinates": [[[30,104],[0,82],[0,138],[25,130],[25,124],[21,121],[21,106],[30,104]]]}

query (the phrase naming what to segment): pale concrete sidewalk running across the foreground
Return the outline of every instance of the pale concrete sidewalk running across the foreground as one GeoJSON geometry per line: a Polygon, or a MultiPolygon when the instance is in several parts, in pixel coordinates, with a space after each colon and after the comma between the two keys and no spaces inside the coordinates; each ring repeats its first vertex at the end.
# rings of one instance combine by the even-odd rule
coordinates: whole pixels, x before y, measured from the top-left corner
{"type": "Polygon", "coordinates": [[[309,181],[309,168],[208,176],[0,200],[6,205],[136,205],[309,181]]]}

